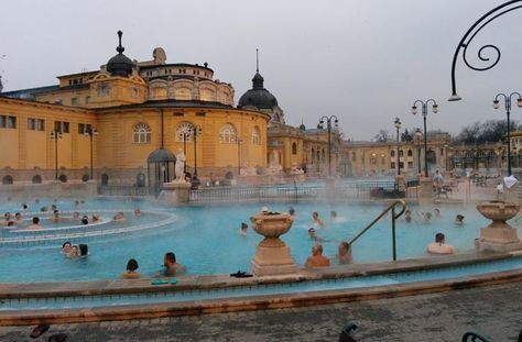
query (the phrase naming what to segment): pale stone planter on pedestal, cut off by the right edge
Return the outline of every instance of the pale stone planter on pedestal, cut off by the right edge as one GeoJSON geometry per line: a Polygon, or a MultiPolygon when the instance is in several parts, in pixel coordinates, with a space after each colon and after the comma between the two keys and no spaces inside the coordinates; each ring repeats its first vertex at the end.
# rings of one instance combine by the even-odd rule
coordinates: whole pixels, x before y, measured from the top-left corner
{"type": "Polygon", "coordinates": [[[522,250],[522,242],[505,221],[514,218],[520,211],[520,205],[514,202],[489,201],[477,206],[477,210],[492,222],[480,230],[477,241],[479,251],[510,252],[522,250]]]}

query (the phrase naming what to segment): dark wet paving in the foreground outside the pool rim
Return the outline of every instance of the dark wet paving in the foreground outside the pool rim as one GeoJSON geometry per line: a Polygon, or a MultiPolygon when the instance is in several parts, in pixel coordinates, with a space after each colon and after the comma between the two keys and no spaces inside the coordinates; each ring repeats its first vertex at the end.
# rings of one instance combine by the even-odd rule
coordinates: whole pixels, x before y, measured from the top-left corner
{"type": "Polygon", "coordinates": [[[328,306],[150,320],[54,326],[31,340],[32,327],[0,327],[0,341],[337,341],[355,322],[357,341],[460,341],[474,330],[490,341],[516,341],[522,283],[443,294],[328,306]]]}

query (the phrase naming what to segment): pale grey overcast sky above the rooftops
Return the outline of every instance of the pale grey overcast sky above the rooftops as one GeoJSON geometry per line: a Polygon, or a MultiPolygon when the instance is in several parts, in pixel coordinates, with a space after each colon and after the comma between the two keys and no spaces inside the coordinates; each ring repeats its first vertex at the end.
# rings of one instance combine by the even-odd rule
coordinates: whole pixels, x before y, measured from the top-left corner
{"type": "MultiPolygon", "coordinates": [[[[469,48],[496,44],[497,67],[474,71],[457,64],[463,101],[447,102],[450,64],[468,27],[504,1],[2,1],[0,74],[4,91],[56,84],[56,76],[98,69],[116,54],[167,63],[208,62],[215,78],[239,97],[251,87],[255,48],[264,86],[286,122],[306,126],[336,114],[347,137],[370,140],[380,129],[421,126],[415,99],[434,98],[428,129],[458,133],[479,120],[504,119],[496,93],[522,91],[522,10],[490,23],[469,48]],[[4,57],[2,57],[6,55],[4,57]]],[[[470,55],[470,58],[474,58],[470,55]]],[[[476,59],[474,59],[476,60],[476,59]]],[[[514,108],[512,118],[522,118],[514,108]]]]}

